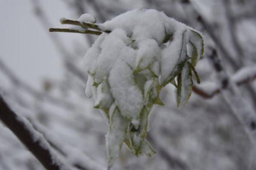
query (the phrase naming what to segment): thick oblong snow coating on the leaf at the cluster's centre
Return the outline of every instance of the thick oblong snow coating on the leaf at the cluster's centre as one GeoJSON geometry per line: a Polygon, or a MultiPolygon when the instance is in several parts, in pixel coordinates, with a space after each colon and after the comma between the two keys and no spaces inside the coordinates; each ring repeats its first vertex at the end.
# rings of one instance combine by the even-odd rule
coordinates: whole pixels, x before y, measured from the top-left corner
{"type": "Polygon", "coordinates": [[[139,113],[143,107],[143,95],[135,84],[131,68],[121,60],[116,61],[110,71],[108,81],[121,115],[131,119],[132,124],[138,128],[139,113]]]}

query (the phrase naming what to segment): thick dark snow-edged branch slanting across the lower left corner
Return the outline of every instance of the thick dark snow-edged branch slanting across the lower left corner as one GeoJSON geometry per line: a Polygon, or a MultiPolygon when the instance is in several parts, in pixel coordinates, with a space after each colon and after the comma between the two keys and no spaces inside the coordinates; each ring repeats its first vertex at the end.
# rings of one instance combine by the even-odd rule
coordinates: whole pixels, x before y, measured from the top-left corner
{"type": "Polygon", "coordinates": [[[0,119],[47,170],[69,169],[53,154],[47,141],[39,132],[33,129],[28,120],[10,109],[1,94],[0,119]]]}

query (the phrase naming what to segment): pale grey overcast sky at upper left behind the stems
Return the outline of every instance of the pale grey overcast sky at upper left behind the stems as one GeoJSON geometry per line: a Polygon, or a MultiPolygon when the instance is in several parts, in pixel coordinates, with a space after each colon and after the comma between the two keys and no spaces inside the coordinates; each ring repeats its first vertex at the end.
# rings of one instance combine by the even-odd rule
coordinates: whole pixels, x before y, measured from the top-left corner
{"type": "MultiPolygon", "coordinates": [[[[59,23],[62,17],[74,18],[62,1],[44,0],[40,3],[52,27],[63,27],[59,23]]],[[[50,40],[51,33],[34,15],[30,0],[1,1],[0,20],[0,58],[22,80],[39,88],[42,78],[61,77],[60,54],[50,40]]],[[[74,48],[74,41],[81,41],[87,48],[81,34],[59,34],[68,49],[74,48]]]]}

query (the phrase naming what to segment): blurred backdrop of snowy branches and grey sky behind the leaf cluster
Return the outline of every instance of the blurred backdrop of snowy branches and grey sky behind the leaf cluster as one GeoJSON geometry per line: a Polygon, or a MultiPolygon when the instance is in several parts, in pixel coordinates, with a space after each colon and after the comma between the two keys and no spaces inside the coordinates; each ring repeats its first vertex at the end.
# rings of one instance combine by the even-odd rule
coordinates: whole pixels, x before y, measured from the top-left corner
{"type": "MultiPolygon", "coordinates": [[[[210,49],[216,48],[226,74],[239,85],[241,100],[256,114],[255,0],[1,1],[0,91],[4,98],[74,169],[104,169],[108,126],[93,108],[93,99],[85,96],[87,75],[82,62],[97,36],[49,33],[48,29],[64,28],[59,22],[63,17],[77,19],[91,13],[103,23],[137,8],[164,11],[203,33],[205,53],[196,66],[201,84],[195,85],[182,109],[176,108],[175,89],[167,85],[161,92],[165,106],[154,106],[149,117],[147,140],[156,155],[137,158],[123,146],[114,169],[256,169],[256,152],[234,115],[235,108],[225,93],[215,92],[220,81],[209,60],[210,49]]],[[[0,123],[0,170],[16,169],[44,168],[0,123]]]]}

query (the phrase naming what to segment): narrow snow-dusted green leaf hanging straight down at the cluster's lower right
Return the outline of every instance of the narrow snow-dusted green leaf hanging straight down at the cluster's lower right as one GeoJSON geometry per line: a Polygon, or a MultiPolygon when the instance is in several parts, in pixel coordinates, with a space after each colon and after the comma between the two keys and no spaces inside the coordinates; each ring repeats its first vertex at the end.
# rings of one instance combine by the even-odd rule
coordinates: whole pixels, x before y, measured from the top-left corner
{"type": "Polygon", "coordinates": [[[183,107],[187,104],[192,92],[192,72],[188,63],[185,63],[183,70],[178,75],[178,88],[177,88],[177,107],[183,107]]]}

